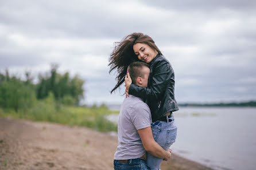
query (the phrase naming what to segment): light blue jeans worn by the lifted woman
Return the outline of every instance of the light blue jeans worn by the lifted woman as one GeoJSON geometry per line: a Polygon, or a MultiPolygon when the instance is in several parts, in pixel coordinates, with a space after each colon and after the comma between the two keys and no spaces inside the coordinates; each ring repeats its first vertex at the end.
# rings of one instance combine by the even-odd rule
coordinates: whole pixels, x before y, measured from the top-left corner
{"type": "MultiPolygon", "coordinates": [[[[174,143],[177,137],[177,127],[174,123],[174,117],[171,122],[156,121],[152,123],[152,133],[154,140],[166,151],[169,151],[170,145],[174,143]]],[[[147,153],[147,165],[151,170],[158,170],[162,159],[147,153]]]]}

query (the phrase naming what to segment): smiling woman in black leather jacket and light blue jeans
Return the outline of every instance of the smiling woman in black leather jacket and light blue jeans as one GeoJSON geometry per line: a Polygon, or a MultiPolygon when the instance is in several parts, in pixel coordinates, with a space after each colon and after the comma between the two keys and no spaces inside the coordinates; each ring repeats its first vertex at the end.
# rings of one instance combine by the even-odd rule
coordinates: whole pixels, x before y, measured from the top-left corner
{"type": "MultiPolygon", "coordinates": [[[[156,142],[166,151],[177,136],[177,127],[172,112],[179,110],[174,98],[174,72],[169,61],[162,55],[152,38],[142,33],[127,35],[122,42],[116,43],[110,57],[110,72],[117,69],[117,85],[114,92],[124,81],[126,96],[131,94],[142,98],[152,114],[152,133],[156,142]],[[150,65],[148,88],[131,84],[127,66],[134,61],[150,65]]],[[[159,169],[162,159],[148,153],[147,164],[151,169],[159,169]]]]}

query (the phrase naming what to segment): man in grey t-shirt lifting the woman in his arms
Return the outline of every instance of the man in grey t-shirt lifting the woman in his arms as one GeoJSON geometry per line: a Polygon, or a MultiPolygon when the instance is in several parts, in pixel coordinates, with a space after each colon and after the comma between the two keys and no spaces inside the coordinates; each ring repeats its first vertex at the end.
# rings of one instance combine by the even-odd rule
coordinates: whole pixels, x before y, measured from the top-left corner
{"type": "MultiPolygon", "coordinates": [[[[149,65],[131,63],[127,71],[134,84],[148,86],[149,65]]],[[[118,118],[118,147],[114,156],[114,169],[150,169],[146,165],[146,151],[153,156],[169,160],[171,151],[165,151],[152,135],[150,109],[141,98],[125,98],[118,118]]]]}

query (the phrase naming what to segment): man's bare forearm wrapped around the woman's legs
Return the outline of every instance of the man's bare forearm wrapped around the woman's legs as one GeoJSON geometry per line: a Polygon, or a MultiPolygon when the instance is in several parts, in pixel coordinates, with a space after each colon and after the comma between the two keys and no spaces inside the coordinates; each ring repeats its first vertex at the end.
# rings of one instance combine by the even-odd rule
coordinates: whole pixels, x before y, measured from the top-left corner
{"type": "Polygon", "coordinates": [[[147,152],[164,160],[170,160],[170,152],[165,151],[160,145],[156,143],[153,138],[152,129],[150,126],[147,128],[139,129],[138,133],[139,137],[141,137],[143,147],[147,152]]]}

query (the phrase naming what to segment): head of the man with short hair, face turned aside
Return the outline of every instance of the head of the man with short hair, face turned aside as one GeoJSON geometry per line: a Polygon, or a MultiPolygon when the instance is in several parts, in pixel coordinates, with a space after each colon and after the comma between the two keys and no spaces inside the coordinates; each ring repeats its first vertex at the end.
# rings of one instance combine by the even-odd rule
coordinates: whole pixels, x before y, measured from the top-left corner
{"type": "Polygon", "coordinates": [[[131,80],[133,84],[141,86],[141,87],[148,87],[148,78],[149,78],[149,65],[145,62],[132,62],[127,71],[130,73],[131,80]]]}

